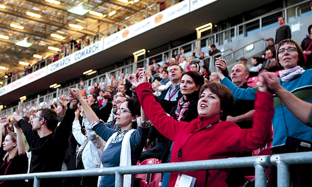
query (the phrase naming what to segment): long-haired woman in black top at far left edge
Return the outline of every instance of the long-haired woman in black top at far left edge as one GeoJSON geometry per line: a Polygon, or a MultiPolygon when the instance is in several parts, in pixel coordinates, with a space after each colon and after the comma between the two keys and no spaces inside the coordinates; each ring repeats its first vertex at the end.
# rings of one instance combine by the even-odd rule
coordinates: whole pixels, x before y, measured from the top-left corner
{"type": "MultiPolygon", "coordinates": [[[[2,139],[3,132],[8,124],[8,119],[3,116],[0,120],[0,139],[2,139]]],[[[15,120],[14,126],[17,132],[8,133],[4,142],[0,145],[0,155],[3,158],[0,163],[0,175],[27,173],[28,158],[22,129],[15,120]]],[[[25,180],[2,180],[0,186],[26,186],[26,182],[25,180]]]]}

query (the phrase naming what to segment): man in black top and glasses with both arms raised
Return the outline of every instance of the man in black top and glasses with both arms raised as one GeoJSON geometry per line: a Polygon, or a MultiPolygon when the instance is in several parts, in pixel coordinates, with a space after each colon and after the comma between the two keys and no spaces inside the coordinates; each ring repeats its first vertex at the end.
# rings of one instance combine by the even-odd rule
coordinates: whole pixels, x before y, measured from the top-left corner
{"type": "MultiPolygon", "coordinates": [[[[61,171],[78,104],[72,95],[69,95],[69,101],[59,126],[57,113],[49,108],[36,112],[31,117],[31,124],[20,116],[14,116],[31,149],[30,173],[61,171]]],[[[28,186],[33,186],[33,180],[28,183],[28,186]]],[[[40,186],[62,186],[62,179],[40,179],[40,186]]]]}

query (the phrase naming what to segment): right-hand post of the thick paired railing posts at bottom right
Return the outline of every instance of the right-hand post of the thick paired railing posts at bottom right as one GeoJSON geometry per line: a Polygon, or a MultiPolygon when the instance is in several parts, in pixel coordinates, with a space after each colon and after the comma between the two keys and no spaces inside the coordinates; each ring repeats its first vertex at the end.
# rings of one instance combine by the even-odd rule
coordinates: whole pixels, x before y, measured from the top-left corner
{"type": "Polygon", "coordinates": [[[290,187],[289,166],[283,161],[277,161],[277,185],[278,187],[290,187]]]}

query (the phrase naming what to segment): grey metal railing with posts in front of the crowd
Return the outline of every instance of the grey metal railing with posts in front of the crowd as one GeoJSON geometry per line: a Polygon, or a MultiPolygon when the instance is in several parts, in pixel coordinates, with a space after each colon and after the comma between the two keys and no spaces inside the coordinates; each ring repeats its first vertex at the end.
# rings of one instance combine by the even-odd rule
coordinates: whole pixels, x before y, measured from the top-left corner
{"type": "Polygon", "coordinates": [[[138,173],[159,173],[159,172],[178,172],[178,171],[199,171],[213,169],[232,169],[241,167],[255,168],[255,186],[266,186],[266,167],[276,165],[278,187],[290,187],[289,165],[293,164],[312,164],[312,152],[278,154],[272,156],[242,157],[215,159],[179,163],[166,163],[154,165],[139,165],[128,167],[109,167],[101,169],[84,169],[70,171],[56,171],[44,173],[29,173],[17,175],[2,175],[0,180],[20,180],[34,179],[34,187],[39,187],[42,178],[62,178],[62,177],[81,177],[115,175],[115,187],[123,186],[123,175],[138,173]]]}

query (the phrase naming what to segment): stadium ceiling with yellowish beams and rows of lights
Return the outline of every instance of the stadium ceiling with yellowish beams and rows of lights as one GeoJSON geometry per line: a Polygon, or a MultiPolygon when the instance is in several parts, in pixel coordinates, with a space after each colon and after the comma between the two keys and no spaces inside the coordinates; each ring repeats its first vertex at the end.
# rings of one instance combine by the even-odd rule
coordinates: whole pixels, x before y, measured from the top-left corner
{"type": "MultiPolygon", "coordinates": [[[[81,41],[81,38],[93,36],[148,6],[146,0],[129,3],[120,1],[122,0],[1,1],[0,66],[9,68],[7,72],[20,72],[24,69],[24,65],[19,64],[20,61],[33,65],[39,61],[33,57],[34,54],[41,55],[42,58],[54,55],[56,52],[48,50],[48,46],[60,48],[61,43],[68,44],[70,36],[81,41]],[[73,8],[80,10],[69,12],[73,8]],[[116,14],[109,16],[113,11],[116,14]],[[69,24],[81,25],[83,29],[72,28],[69,24]],[[51,34],[58,34],[63,38],[58,39],[51,34]],[[23,40],[31,46],[16,44],[23,40]]],[[[155,1],[148,2],[149,5],[155,4],[155,1]]],[[[1,71],[0,78],[4,75],[5,71],[1,71]]]]}

